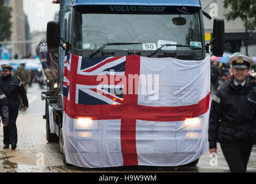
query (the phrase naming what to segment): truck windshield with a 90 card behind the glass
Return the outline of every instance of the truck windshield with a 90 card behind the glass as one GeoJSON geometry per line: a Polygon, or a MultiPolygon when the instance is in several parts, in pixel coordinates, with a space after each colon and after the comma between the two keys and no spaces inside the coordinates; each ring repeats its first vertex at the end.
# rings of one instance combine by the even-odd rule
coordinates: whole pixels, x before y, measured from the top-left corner
{"type": "Polygon", "coordinates": [[[97,50],[106,43],[116,50],[201,50],[199,13],[194,14],[81,14],[75,20],[76,49],[97,50]],[[173,21],[179,18],[183,23],[173,21]],[[177,46],[175,46],[177,44],[177,46]],[[179,47],[191,45],[196,47],[179,47]]]}

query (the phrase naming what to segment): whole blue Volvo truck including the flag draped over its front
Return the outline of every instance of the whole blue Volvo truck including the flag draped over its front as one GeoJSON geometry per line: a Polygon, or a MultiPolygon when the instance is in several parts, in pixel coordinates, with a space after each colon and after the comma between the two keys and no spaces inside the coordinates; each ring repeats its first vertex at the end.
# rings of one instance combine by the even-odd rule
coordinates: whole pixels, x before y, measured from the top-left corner
{"type": "Polygon", "coordinates": [[[47,76],[46,139],[60,143],[64,163],[195,166],[208,149],[209,55],[224,52],[224,20],[214,19],[206,43],[203,16],[212,17],[199,0],[58,3],[36,53],[47,76]],[[139,82],[111,83],[130,74],[139,82]],[[144,79],[158,87],[124,93],[143,92],[144,79]]]}

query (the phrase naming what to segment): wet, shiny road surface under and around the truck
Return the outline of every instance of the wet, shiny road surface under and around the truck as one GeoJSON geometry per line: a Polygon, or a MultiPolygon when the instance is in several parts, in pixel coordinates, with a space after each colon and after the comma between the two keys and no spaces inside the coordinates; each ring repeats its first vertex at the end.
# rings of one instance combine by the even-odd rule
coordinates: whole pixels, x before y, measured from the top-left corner
{"type": "MultiPolygon", "coordinates": [[[[218,145],[217,166],[211,166],[209,152],[201,157],[196,167],[126,167],[86,169],[66,167],[58,143],[47,143],[46,123],[43,119],[44,101],[37,83],[28,88],[29,108],[26,112],[20,111],[17,118],[18,144],[16,150],[3,149],[3,131],[0,131],[0,172],[17,173],[80,173],[80,172],[192,172],[192,173],[225,173],[229,172],[227,162],[218,145]]],[[[216,165],[216,162],[214,162],[216,165]]],[[[256,172],[256,146],[254,145],[248,162],[247,172],[256,172]]]]}

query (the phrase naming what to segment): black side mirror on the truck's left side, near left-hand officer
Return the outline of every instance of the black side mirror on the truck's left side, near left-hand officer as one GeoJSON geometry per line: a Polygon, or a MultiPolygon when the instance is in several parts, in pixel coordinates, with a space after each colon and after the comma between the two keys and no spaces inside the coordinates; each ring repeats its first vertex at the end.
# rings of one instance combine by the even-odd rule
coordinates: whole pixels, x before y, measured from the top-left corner
{"type": "Polygon", "coordinates": [[[60,46],[60,24],[57,21],[47,23],[46,39],[48,49],[57,49],[60,46]]]}

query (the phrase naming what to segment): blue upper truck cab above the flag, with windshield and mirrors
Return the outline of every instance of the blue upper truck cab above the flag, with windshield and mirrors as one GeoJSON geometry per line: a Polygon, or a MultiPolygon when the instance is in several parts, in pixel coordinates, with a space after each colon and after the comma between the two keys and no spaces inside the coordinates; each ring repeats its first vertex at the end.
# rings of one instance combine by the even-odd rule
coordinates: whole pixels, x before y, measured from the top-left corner
{"type": "Polygon", "coordinates": [[[47,26],[48,49],[59,48],[58,90],[62,89],[65,50],[79,56],[139,55],[202,60],[212,44],[224,51],[224,21],[214,20],[213,40],[205,43],[199,0],[62,0],[59,21],[47,26]],[[61,48],[66,45],[66,48],[61,48]]]}

